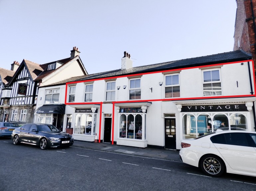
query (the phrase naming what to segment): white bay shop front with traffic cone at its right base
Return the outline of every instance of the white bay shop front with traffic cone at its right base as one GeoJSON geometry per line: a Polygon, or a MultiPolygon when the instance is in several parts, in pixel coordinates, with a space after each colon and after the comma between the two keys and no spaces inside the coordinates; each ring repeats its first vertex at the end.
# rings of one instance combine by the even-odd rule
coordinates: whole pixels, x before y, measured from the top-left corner
{"type": "Polygon", "coordinates": [[[75,140],[93,142],[97,127],[98,109],[100,105],[70,106],[73,108],[72,135],[75,140]]]}

